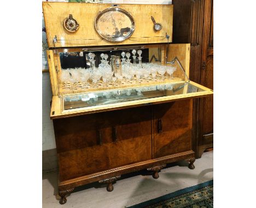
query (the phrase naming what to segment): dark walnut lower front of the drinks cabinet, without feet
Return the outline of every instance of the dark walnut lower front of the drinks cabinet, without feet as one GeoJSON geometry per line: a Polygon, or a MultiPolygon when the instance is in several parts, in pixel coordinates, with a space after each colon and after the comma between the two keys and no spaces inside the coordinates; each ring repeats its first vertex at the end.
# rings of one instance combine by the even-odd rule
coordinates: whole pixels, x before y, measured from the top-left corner
{"type": "Polygon", "coordinates": [[[54,119],[60,190],[194,157],[192,103],[54,119]]]}

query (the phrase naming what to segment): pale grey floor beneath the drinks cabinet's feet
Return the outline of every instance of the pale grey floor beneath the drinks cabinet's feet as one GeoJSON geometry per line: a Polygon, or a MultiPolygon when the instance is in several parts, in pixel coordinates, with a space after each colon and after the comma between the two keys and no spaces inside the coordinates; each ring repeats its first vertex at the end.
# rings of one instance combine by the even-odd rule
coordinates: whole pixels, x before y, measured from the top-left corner
{"type": "Polygon", "coordinates": [[[43,174],[43,208],[122,208],[172,193],[182,188],[213,179],[213,151],[203,153],[195,161],[195,169],[189,169],[188,162],[168,164],[153,179],[147,170],[122,175],[114,183],[114,191],[107,192],[106,185],[95,182],[74,190],[65,205],[59,204],[57,194],[57,172],[43,174]]]}

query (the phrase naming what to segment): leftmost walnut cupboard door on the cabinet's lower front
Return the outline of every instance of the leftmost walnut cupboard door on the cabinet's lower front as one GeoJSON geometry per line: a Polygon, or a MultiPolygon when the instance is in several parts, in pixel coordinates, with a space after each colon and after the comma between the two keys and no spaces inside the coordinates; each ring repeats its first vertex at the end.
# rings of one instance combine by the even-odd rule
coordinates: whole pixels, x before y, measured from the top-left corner
{"type": "Polygon", "coordinates": [[[102,113],[54,120],[59,178],[65,181],[110,168],[102,113]]]}

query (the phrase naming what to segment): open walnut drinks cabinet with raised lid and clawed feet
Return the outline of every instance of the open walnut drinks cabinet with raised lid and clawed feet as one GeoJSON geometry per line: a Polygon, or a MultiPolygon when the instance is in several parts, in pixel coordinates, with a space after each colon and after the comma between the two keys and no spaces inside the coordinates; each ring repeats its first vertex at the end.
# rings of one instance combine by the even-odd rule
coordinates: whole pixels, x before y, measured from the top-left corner
{"type": "Polygon", "coordinates": [[[43,2],[43,13],[60,203],[136,170],[194,169],[193,99],[213,91],[189,79],[190,44],[171,43],[173,5],[43,2]]]}

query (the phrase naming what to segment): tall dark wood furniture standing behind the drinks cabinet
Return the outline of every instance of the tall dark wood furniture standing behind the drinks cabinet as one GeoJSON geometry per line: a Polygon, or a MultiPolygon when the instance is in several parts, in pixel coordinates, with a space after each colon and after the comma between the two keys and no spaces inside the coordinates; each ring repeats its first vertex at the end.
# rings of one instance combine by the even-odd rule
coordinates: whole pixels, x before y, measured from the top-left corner
{"type": "MultiPolygon", "coordinates": [[[[173,0],[173,43],[190,42],[190,79],[213,89],[213,0],[173,0]]],[[[213,95],[193,102],[196,157],[213,147],[213,95]]]]}

